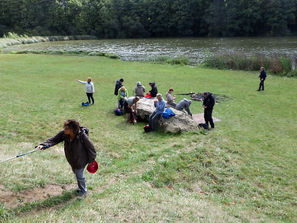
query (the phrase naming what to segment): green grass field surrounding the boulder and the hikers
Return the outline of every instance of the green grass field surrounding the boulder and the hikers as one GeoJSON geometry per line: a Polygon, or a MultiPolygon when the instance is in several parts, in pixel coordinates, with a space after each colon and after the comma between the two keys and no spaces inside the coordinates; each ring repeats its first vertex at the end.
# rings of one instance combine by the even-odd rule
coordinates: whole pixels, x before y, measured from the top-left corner
{"type": "MultiPolygon", "coordinates": [[[[18,197],[17,207],[1,203],[0,222],[297,221],[296,78],[268,76],[257,92],[258,73],[105,57],[0,54],[0,67],[0,160],[33,150],[75,118],[89,128],[100,164],[85,172],[83,200],[62,144],[0,164],[0,199],[18,197]],[[82,107],[84,85],[75,80],[89,76],[95,105],[82,107]],[[147,123],[112,112],[119,78],[129,96],[137,81],[147,89],[155,81],[163,95],[169,87],[225,95],[213,112],[222,121],[207,135],[146,134],[147,123]],[[65,189],[34,202],[20,197],[47,185],[65,189]]],[[[191,110],[202,113],[202,102],[191,110]]]]}

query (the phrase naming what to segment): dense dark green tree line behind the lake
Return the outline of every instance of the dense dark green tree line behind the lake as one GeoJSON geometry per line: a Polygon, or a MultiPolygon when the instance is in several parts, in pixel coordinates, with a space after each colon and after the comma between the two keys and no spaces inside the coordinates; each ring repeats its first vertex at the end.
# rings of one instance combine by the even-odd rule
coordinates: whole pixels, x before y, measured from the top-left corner
{"type": "Polygon", "coordinates": [[[0,36],[282,36],[297,0],[0,0],[0,36]]]}

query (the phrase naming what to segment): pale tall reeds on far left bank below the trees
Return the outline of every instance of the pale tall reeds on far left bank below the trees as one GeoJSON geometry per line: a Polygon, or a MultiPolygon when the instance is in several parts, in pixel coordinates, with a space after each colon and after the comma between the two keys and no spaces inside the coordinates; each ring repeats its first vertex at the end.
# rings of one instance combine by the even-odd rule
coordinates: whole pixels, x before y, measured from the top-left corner
{"type": "Polygon", "coordinates": [[[0,38],[0,50],[8,46],[40,43],[50,41],[64,41],[64,40],[95,40],[97,37],[88,35],[76,35],[76,36],[33,36],[33,37],[19,37],[17,34],[12,35],[13,38],[0,38]]]}

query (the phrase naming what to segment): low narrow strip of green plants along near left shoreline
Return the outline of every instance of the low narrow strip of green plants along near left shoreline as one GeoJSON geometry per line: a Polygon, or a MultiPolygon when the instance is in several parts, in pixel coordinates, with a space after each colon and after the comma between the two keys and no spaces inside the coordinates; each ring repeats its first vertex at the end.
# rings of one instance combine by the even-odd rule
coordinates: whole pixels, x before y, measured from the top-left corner
{"type": "Polygon", "coordinates": [[[120,59],[120,57],[114,53],[105,53],[101,51],[87,51],[87,50],[20,50],[11,51],[10,54],[54,54],[54,55],[83,55],[83,56],[106,56],[111,59],[120,59]]]}

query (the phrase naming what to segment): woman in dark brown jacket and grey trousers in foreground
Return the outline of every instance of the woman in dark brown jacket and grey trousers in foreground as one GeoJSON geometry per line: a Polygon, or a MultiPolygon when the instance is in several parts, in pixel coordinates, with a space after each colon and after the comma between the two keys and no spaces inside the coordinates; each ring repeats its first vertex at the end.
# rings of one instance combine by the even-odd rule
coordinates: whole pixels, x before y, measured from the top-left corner
{"type": "Polygon", "coordinates": [[[62,131],[41,143],[37,148],[41,149],[45,145],[52,147],[60,142],[64,142],[65,157],[75,174],[79,195],[85,197],[87,186],[83,171],[87,164],[89,166],[95,161],[94,144],[86,133],[80,131],[80,125],[75,119],[65,121],[62,131]]]}

